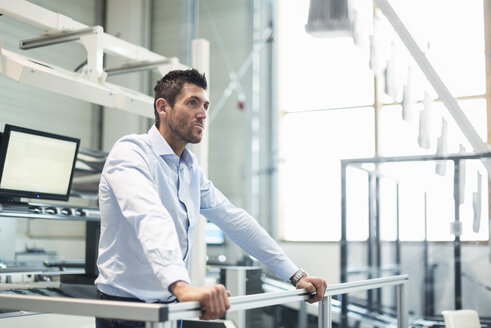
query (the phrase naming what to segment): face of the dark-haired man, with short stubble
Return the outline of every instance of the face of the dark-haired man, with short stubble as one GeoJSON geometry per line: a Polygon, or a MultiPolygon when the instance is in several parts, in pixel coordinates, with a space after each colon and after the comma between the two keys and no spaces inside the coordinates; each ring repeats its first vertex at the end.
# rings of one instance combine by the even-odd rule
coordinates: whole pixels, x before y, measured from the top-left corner
{"type": "Polygon", "coordinates": [[[174,137],[186,143],[200,142],[209,104],[204,89],[184,83],[174,106],[167,112],[167,124],[174,137]]]}

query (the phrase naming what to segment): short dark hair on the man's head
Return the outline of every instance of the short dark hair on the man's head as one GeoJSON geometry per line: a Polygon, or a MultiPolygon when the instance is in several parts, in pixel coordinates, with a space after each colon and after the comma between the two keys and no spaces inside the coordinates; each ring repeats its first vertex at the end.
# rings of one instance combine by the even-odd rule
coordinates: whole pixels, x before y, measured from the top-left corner
{"type": "Polygon", "coordinates": [[[181,92],[184,83],[192,83],[206,90],[207,83],[205,74],[201,74],[194,68],[189,70],[175,70],[165,74],[162,79],[157,81],[155,88],[155,98],[153,100],[153,110],[155,114],[155,125],[159,127],[160,117],[157,112],[155,102],[159,98],[164,98],[172,107],[177,95],[181,92]]]}

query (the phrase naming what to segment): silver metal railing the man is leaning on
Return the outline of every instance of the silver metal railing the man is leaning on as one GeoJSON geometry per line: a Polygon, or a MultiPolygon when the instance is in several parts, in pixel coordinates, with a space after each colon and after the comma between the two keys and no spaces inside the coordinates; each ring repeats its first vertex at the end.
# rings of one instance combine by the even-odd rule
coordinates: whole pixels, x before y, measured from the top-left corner
{"type": "MultiPolygon", "coordinates": [[[[324,298],[319,302],[318,327],[331,328],[331,298],[333,295],[397,286],[397,327],[407,328],[408,309],[405,285],[408,279],[407,275],[399,275],[328,286],[324,298]]],[[[308,298],[304,289],[236,296],[230,298],[231,307],[228,312],[302,301],[308,298]]],[[[174,328],[177,325],[176,320],[199,317],[202,311],[198,302],[147,304],[12,294],[0,294],[0,309],[144,321],[147,328],[174,328]]]]}

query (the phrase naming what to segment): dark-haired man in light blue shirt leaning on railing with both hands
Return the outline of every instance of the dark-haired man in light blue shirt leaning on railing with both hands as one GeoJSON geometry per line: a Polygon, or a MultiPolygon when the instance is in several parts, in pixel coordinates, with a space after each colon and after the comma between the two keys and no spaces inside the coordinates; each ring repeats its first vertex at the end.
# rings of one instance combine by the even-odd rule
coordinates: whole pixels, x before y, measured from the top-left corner
{"type": "MultiPolygon", "coordinates": [[[[99,297],[199,301],[202,319],[223,316],[230,307],[223,285],[190,285],[190,249],[202,214],[282,279],[316,292],[309,302],[322,299],[326,281],[298,269],[247,212],[213,186],[186,149],[203,135],[206,88],[205,76],[194,69],[169,72],[155,86],[155,125],[148,134],[123,137],[111,150],[99,185],[99,297]]],[[[97,327],[109,324],[114,322],[97,319],[97,327]]]]}

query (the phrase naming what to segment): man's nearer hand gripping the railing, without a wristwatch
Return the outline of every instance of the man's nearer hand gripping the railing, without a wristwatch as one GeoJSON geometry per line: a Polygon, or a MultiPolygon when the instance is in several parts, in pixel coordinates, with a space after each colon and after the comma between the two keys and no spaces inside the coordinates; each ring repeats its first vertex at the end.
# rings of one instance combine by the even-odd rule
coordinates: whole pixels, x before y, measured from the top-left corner
{"type": "Polygon", "coordinates": [[[205,309],[200,319],[221,318],[230,308],[230,292],[223,285],[192,287],[184,281],[177,281],[169,287],[179,302],[198,301],[205,309]]]}

